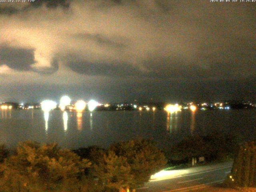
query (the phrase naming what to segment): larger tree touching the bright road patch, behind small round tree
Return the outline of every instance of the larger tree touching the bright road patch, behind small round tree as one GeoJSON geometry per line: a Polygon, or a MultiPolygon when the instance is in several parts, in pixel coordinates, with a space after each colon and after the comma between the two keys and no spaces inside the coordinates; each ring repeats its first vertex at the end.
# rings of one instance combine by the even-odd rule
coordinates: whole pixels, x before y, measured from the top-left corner
{"type": "Polygon", "coordinates": [[[117,156],[125,157],[130,165],[130,173],[134,176],[131,187],[136,188],[148,182],[150,176],[166,165],[164,154],[152,140],[138,139],[118,142],[110,146],[117,156]]]}

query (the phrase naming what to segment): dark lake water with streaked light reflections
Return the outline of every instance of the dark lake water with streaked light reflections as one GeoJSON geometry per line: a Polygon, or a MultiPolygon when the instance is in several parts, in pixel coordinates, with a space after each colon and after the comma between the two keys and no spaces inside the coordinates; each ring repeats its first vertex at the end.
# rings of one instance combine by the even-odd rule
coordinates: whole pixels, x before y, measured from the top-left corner
{"type": "Polygon", "coordinates": [[[256,110],[62,112],[53,110],[0,110],[0,143],[58,142],[70,149],[107,147],[132,138],[152,138],[160,148],[193,134],[239,134],[256,139],[256,110]],[[48,122],[46,120],[48,119],[48,122]]]}

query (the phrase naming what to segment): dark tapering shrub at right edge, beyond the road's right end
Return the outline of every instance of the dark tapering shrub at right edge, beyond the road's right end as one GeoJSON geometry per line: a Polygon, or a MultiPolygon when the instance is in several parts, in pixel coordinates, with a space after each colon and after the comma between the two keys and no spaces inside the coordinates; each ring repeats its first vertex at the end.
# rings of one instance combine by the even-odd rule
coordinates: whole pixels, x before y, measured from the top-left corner
{"type": "Polygon", "coordinates": [[[255,142],[246,142],[240,146],[226,184],[229,186],[256,187],[255,142]]]}

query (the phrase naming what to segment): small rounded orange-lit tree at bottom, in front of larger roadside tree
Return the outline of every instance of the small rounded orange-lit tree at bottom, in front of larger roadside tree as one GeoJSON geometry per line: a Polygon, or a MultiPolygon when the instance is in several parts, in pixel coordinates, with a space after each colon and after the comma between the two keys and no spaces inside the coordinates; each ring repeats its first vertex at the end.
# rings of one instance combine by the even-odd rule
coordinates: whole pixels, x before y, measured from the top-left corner
{"type": "Polygon", "coordinates": [[[93,174],[108,190],[111,188],[119,190],[121,187],[127,187],[133,178],[126,158],[116,156],[113,151],[108,151],[107,154],[103,155],[102,161],[94,164],[93,174]]]}

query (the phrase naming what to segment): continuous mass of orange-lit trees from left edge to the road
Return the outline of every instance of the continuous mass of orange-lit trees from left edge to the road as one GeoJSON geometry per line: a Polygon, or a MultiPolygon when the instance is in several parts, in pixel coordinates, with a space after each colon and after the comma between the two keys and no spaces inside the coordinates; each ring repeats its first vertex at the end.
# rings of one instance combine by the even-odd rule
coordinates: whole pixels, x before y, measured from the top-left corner
{"type": "Polygon", "coordinates": [[[1,149],[0,192],[116,192],[148,182],[166,165],[164,154],[143,139],[74,152],[26,141],[8,157],[6,148],[0,154],[1,149]]]}

